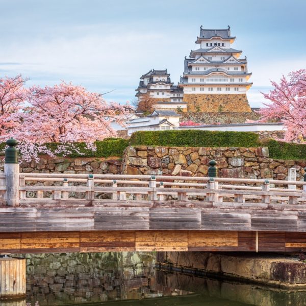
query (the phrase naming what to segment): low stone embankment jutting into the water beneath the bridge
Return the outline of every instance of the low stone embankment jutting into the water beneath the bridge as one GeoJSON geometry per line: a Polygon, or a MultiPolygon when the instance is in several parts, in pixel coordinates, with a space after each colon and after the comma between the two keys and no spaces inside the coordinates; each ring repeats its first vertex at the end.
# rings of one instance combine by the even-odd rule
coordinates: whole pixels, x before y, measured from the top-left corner
{"type": "Polygon", "coordinates": [[[158,252],[157,262],[170,271],[306,290],[306,263],[277,254],[158,252]]]}

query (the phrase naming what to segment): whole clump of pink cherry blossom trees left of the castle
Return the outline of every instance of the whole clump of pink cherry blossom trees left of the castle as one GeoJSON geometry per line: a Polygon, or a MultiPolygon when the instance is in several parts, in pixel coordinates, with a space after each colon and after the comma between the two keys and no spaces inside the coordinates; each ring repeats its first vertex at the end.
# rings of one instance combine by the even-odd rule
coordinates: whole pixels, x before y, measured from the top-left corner
{"type": "Polygon", "coordinates": [[[129,104],[107,103],[100,94],[71,83],[24,89],[24,82],[20,75],[0,79],[0,138],[16,138],[28,161],[38,160],[39,153],[70,154],[77,150],[75,142],[94,150],[96,140],[117,136],[111,122],[124,125],[133,110],[129,104]],[[52,152],[44,145],[48,142],[60,145],[52,152]]]}

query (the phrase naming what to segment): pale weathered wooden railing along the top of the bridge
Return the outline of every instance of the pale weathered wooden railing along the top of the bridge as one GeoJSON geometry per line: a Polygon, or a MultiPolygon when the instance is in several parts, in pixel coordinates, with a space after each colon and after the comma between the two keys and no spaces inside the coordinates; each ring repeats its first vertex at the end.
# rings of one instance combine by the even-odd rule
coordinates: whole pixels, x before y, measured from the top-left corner
{"type": "MultiPolygon", "coordinates": [[[[0,174],[0,198],[5,200],[5,176],[0,174]]],[[[66,200],[110,201],[202,201],[214,203],[299,204],[306,202],[306,182],[231,179],[224,177],[110,175],[110,174],[19,174],[19,203],[66,200]],[[49,185],[49,186],[46,186],[49,185]],[[290,189],[288,186],[290,185],[290,189]],[[277,186],[277,187],[275,187],[277,186]],[[292,189],[295,188],[295,189],[292,189]]]]}

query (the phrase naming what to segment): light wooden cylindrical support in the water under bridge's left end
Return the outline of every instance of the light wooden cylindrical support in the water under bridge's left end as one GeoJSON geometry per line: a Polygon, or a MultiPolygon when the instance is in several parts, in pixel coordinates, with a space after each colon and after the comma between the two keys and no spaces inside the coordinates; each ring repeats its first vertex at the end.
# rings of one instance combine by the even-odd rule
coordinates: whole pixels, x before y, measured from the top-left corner
{"type": "Polygon", "coordinates": [[[25,259],[0,257],[0,300],[25,296],[25,266],[25,259]]]}

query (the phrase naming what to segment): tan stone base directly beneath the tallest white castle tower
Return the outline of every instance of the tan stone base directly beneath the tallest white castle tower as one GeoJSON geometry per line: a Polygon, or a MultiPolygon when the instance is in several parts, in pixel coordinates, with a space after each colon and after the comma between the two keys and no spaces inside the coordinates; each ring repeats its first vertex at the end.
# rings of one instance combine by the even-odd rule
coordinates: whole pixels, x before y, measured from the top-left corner
{"type": "Polygon", "coordinates": [[[185,94],[190,112],[251,112],[246,94],[185,94]]]}

